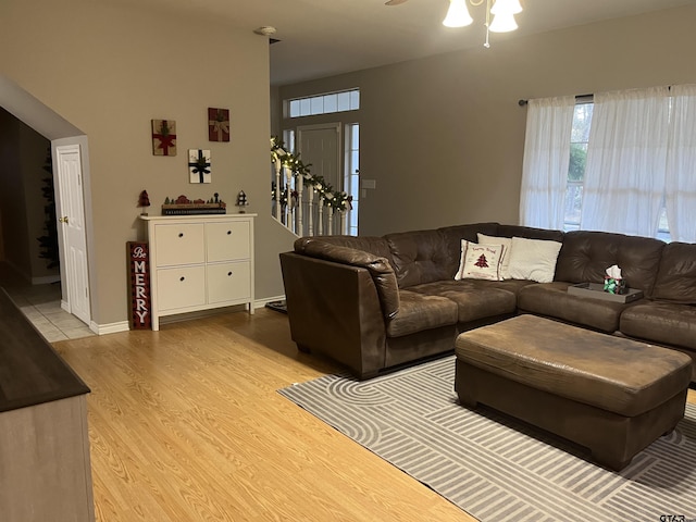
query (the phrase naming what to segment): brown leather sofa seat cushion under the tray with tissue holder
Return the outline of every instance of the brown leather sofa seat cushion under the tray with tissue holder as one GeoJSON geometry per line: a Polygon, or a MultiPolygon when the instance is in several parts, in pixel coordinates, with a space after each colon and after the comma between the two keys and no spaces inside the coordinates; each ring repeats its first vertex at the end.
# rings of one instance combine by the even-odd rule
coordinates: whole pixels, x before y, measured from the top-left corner
{"type": "Polygon", "coordinates": [[[619,330],[621,312],[631,304],[570,295],[569,286],[563,282],[525,286],[518,294],[518,308],[606,333],[619,330]]]}

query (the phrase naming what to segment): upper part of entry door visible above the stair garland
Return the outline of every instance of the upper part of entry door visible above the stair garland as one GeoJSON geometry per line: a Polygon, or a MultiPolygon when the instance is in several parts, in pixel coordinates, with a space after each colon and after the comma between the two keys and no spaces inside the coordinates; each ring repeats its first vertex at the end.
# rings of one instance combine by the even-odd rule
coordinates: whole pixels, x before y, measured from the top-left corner
{"type": "Polygon", "coordinates": [[[340,124],[300,126],[297,127],[297,138],[302,163],[311,163],[309,171],[315,176],[323,176],[334,190],[343,190],[340,124]]]}

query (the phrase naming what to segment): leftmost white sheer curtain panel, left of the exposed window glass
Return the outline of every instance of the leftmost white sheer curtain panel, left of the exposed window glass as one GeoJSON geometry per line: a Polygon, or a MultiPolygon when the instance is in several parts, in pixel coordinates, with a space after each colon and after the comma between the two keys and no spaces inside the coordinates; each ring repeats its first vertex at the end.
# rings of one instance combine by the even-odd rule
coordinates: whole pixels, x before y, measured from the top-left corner
{"type": "Polygon", "coordinates": [[[526,114],[520,224],[563,228],[575,97],[530,100],[526,114]]]}

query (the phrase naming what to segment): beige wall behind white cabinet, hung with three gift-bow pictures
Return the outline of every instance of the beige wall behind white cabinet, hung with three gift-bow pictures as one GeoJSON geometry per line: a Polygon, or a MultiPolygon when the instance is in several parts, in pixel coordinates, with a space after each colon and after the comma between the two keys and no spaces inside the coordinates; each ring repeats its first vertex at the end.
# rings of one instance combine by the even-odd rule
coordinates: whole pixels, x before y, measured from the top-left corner
{"type": "Polygon", "coordinates": [[[87,136],[92,320],[127,320],[124,244],[144,228],[138,195],[234,203],[257,220],[257,298],[283,294],[291,236],[269,215],[269,45],[219,21],[89,0],[3,0],[0,72],[87,136]],[[231,110],[232,141],[208,141],[207,109],[231,110]],[[176,121],[176,157],[152,156],[150,120],[176,121]],[[188,183],[187,149],[210,149],[213,183],[188,183]]]}

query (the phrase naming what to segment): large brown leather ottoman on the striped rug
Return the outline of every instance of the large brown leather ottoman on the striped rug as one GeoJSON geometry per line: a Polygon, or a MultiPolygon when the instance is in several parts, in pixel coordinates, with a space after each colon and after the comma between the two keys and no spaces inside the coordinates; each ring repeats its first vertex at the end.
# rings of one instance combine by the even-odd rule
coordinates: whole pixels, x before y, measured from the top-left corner
{"type": "Polygon", "coordinates": [[[455,389],[589,448],[612,470],[684,417],[692,360],[675,350],[519,315],[456,341],[455,389]]]}

